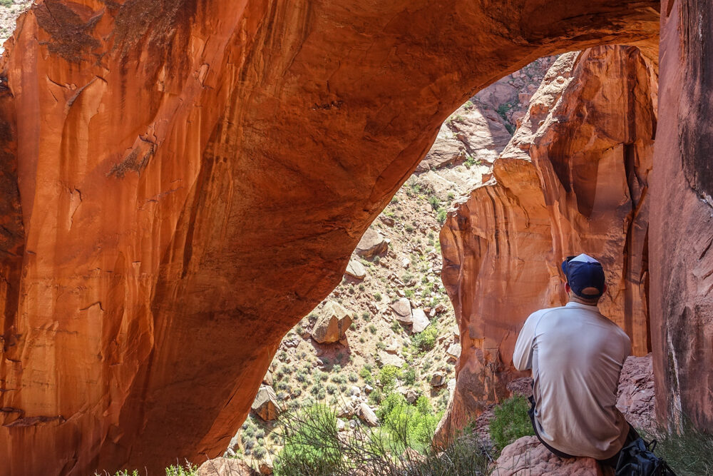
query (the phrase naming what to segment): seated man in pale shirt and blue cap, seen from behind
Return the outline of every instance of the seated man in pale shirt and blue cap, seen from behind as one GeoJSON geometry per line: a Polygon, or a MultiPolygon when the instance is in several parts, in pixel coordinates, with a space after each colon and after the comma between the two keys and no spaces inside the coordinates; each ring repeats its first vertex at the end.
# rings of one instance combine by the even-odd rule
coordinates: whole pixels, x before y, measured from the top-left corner
{"type": "Polygon", "coordinates": [[[631,340],[605,318],[597,303],[604,270],[582,254],[562,263],[569,302],[525,321],[513,363],[532,369],[530,419],[540,442],[559,457],[589,456],[616,466],[636,432],[617,407],[617,387],[631,340]]]}

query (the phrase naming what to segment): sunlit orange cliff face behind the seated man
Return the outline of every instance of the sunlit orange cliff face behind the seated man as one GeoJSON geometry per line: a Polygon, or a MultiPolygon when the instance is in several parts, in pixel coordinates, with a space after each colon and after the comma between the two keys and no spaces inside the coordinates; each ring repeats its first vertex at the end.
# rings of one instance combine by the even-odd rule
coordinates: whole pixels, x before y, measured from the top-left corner
{"type": "Polygon", "coordinates": [[[600,259],[609,286],[602,313],[627,331],[635,354],[650,350],[656,87],[655,71],[634,47],[560,56],[495,161],[493,179],[449,213],[443,283],[462,352],[444,425],[462,427],[525,375],[512,366],[515,340],[530,313],[566,302],[563,256],[600,259]]]}

